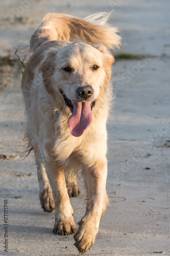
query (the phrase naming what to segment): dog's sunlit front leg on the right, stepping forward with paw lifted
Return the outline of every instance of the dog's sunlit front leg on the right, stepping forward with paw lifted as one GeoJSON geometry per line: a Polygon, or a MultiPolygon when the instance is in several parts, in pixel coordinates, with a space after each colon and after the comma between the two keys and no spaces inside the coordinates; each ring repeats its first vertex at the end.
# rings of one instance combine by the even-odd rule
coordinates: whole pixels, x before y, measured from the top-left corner
{"type": "Polygon", "coordinates": [[[75,245],[80,253],[90,249],[99,230],[101,216],[109,202],[106,194],[107,162],[99,160],[92,167],[83,169],[88,201],[86,214],[79,222],[75,245]]]}

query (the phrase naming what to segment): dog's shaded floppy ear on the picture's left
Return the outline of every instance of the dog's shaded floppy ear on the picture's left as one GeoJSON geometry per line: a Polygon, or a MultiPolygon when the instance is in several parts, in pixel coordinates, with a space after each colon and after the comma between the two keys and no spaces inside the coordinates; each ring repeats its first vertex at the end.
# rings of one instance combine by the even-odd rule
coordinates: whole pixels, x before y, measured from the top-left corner
{"type": "Polygon", "coordinates": [[[42,73],[44,87],[48,93],[53,93],[51,86],[51,76],[55,69],[55,56],[57,54],[56,48],[50,48],[48,51],[43,53],[44,57],[39,67],[39,72],[42,73]]]}

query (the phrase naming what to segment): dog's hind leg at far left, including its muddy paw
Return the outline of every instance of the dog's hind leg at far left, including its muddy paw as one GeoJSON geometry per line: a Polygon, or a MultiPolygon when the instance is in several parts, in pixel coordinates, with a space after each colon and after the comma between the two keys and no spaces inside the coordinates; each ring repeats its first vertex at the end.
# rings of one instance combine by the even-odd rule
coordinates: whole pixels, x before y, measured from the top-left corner
{"type": "Polygon", "coordinates": [[[52,212],[55,209],[55,203],[53,199],[53,191],[50,186],[50,182],[46,175],[45,167],[42,163],[39,148],[34,149],[36,164],[37,164],[37,175],[39,181],[39,198],[41,208],[46,212],[52,212]]]}

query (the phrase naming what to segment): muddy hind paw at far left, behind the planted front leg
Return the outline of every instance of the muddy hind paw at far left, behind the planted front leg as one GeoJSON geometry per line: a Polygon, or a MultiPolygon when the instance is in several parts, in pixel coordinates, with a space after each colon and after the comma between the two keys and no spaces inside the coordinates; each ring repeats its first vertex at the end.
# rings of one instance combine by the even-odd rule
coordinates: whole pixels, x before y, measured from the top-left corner
{"type": "Polygon", "coordinates": [[[41,208],[46,212],[52,212],[55,209],[53,193],[51,188],[46,188],[40,193],[41,208]]]}

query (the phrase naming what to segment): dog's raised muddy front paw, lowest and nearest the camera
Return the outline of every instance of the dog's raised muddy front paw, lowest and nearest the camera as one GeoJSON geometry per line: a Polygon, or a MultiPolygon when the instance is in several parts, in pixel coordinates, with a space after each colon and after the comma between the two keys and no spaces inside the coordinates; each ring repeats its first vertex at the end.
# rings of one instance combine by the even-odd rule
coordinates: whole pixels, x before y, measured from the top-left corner
{"type": "Polygon", "coordinates": [[[74,239],[76,241],[74,245],[77,247],[79,252],[83,254],[84,252],[88,251],[93,245],[95,241],[95,235],[88,233],[85,228],[78,229],[74,236],[74,239]]]}

